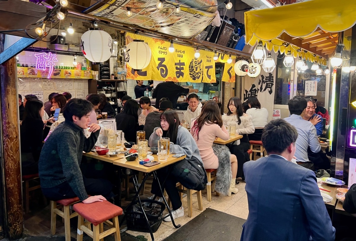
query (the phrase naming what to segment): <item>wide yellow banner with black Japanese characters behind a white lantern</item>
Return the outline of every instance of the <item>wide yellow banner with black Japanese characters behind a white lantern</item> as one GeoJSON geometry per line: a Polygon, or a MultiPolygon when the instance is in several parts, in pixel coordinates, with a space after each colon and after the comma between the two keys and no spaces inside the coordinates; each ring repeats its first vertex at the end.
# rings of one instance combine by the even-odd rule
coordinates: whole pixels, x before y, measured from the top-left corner
{"type": "Polygon", "coordinates": [[[174,44],[174,52],[168,51],[170,42],[149,38],[142,35],[126,33],[126,44],[133,39],[144,40],[151,48],[151,62],[142,71],[133,71],[127,65],[128,79],[154,80],[193,83],[215,83],[214,53],[200,50],[200,57],[194,58],[195,49],[180,44],[174,44]]]}

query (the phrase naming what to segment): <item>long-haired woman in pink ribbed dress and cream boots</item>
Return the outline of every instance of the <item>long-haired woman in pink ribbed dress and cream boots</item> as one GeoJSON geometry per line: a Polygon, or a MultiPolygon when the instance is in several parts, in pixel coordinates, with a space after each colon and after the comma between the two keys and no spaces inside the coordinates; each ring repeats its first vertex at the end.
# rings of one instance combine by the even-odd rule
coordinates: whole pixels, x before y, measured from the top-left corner
{"type": "MultiPolygon", "coordinates": [[[[208,100],[203,105],[201,113],[198,119],[194,122],[190,133],[193,135],[197,142],[201,159],[204,163],[205,169],[218,169],[219,160],[214,154],[213,143],[216,137],[223,140],[230,138],[227,132],[223,119],[221,119],[220,110],[218,104],[214,100],[208,100]]],[[[235,155],[230,155],[232,179],[230,183],[229,193],[227,196],[231,196],[232,193],[237,193],[235,188],[235,180],[237,173],[237,158],[235,155]]]]}

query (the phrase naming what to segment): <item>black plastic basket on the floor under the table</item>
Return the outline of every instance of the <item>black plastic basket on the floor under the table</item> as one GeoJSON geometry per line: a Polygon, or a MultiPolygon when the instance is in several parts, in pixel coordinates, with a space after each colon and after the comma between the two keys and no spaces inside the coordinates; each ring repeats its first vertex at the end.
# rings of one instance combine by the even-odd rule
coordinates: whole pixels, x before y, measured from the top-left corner
{"type": "MultiPolygon", "coordinates": [[[[147,208],[148,210],[146,211],[146,216],[148,222],[151,225],[152,232],[156,232],[162,223],[162,220],[159,221],[158,223],[157,221],[162,218],[162,214],[166,206],[161,202],[151,200],[151,199],[141,200],[141,203],[143,208],[147,208]],[[151,214],[152,210],[155,210],[155,212],[156,213],[158,212],[158,214],[156,215],[151,214]]],[[[139,205],[138,202],[137,205],[139,205]]],[[[129,230],[138,231],[138,232],[150,232],[150,230],[147,227],[145,216],[143,215],[141,210],[134,212],[133,207],[131,207],[131,210],[126,213],[126,222],[127,222],[127,229],[129,230]]]]}

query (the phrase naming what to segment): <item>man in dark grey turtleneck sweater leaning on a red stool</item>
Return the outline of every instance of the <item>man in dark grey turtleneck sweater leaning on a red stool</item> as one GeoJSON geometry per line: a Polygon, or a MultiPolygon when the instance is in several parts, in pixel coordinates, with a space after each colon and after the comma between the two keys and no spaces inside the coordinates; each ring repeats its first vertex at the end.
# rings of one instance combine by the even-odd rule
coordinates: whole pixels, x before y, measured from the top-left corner
{"type": "Polygon", "coordinates": [[[43,194],[53,201],[79,197],[83,203],[93,203],[110,197],[108,180],[85,178],[80,170],[83,151],[90,152],[99,136],[100,126],[89,125],[91,110],[93,105],[87,100],[71,99],[63,108],[65,121],[43,145],[38,173],[43,194]],[[89,130],[89,138],[84,136],[83,129],[89,130]]]}

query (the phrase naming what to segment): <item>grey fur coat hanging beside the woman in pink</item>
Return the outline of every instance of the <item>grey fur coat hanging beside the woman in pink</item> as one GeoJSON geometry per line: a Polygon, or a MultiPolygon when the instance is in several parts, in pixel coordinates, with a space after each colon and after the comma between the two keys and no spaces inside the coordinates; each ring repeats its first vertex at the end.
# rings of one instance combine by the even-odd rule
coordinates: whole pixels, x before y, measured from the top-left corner
{"type": "Polygon", "coordinates": [[[213,144],[214,154],[219,159],[219,168],[216,171],[215,191],[227,195],[232,179],[230,150],[225,145],[213,144]]]}

